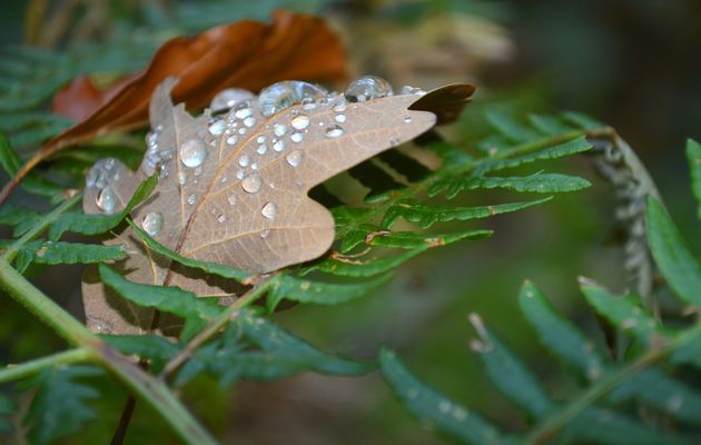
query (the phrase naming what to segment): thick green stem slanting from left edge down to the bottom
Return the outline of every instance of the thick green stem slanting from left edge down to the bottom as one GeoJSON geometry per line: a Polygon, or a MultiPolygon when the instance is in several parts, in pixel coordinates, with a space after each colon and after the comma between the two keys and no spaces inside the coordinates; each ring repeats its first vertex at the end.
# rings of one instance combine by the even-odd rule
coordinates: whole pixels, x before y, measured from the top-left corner
{"type": "Polygon", "coordinates": [[[0,258],[0,285],[68,343],[86,350],[134,394],[150,405],[188,444],[214,445],[216,441],[197,423],[160,379],[145,373],[116,352],[0,258]]]}

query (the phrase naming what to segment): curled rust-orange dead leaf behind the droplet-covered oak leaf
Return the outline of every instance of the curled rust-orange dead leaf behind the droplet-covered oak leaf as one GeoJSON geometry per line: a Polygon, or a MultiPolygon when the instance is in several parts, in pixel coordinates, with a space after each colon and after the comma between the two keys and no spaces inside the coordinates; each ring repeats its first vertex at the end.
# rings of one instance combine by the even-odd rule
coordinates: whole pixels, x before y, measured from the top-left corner
{"type": "Polygon", "coordinates": [[[278,80],[337,81],[345,73],[338,37],[322,19],[312,16],[276,11],[270,24],[239,21],[195,37],[171,39],[146,70],[118,83],[115,90],[89,91],[86,81],[79,80],[72,88],[75,96],[70,87],[63,91],[56,106],[69,116],[86,115],[86,109],[73,110],[68,103],[83,96],[99,107],[27,161],[0,194],[0,204],[34,166],[57,151],[109,130],[146,123],[151,93],[169,76],[180,79],[172,92],[175,100],[188,108],[201,108],[227,87],[257,91],[278,80]]]}

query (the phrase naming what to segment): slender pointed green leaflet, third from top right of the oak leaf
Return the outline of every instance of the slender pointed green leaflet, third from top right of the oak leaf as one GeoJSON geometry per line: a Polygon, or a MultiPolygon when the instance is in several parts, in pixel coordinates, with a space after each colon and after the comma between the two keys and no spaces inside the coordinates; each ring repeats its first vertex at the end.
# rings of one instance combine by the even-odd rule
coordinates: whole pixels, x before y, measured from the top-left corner
{"type": "Polygon", "coordinates": [[[547,197],[526,202],[498,204],[483,207],[433,206],[416,199],[403,199],[387,209],[382,225],[383,227],[389,228],[397,219],[404,218],[409,222],[418,222],[418,225],[425,229],[433,226],[435,222],[447,222],[452,220],[465,221],[468,219],[487,218],[494,215],[523,210],[551,199],[552,197],[547,197]]]}

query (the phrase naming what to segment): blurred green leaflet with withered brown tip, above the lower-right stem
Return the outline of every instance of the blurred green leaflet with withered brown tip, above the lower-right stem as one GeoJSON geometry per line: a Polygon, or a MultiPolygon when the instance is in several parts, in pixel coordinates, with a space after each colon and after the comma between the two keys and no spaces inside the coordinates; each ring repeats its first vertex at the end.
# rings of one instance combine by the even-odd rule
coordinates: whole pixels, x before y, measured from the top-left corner
{"type": "Polygon", "coordinates": [[[532,418],[541,419],[551,413],[555,405],[539,384],[539,379],[494,334],[482,325],[477,329],[481,339],[473,342],[473,350],[478,354],[490,380],[532,418]]]}

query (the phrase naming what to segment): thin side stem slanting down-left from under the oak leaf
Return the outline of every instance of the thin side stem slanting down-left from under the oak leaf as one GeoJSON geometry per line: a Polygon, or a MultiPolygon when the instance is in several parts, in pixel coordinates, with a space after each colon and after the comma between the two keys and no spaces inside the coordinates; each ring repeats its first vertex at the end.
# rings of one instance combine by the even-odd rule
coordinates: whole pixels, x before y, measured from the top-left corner
{"type": "Polygon", "coordinates": [[[254,303],[260,296],[263,296],[269,287],[274,284],[275,278],[268,278],[267,280],[256,284],[250,290],[244,294],[240,298],[229,305],[221,312],[207,327],[200,330],[195,338],[192,338],[175,357],[172,357],[164,367],[159,375],[159,378],[168,378],[175,370],[177,370],[194,353],[205,344],[208,339],[214,337],[224,326],[235,319],[239,310],[249,304],[254,303]]]}

